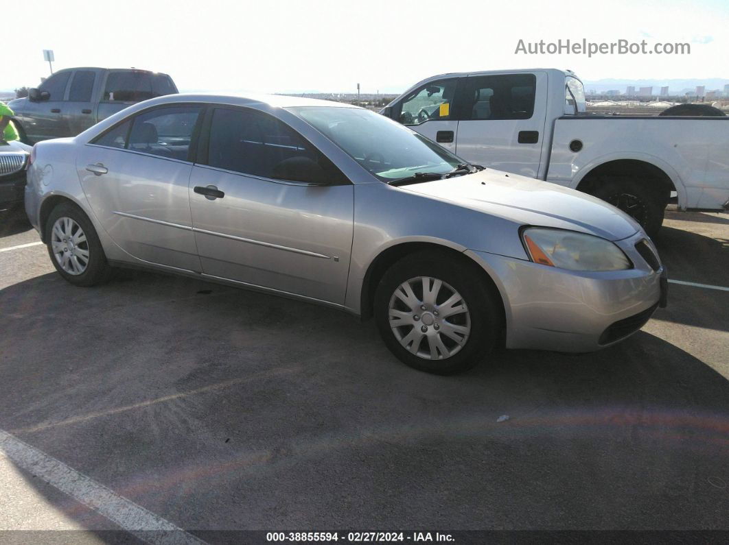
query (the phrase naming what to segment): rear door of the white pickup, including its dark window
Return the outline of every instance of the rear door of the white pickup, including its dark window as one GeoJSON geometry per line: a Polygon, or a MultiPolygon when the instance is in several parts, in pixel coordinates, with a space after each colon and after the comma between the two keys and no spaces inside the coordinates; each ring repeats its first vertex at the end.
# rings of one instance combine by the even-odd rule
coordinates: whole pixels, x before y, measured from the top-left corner
{"type": "Polygon", "coordinates": [[[537,178],[545,138],[547,74],[464,78],[456,154],[468,162],[537,178]]]}

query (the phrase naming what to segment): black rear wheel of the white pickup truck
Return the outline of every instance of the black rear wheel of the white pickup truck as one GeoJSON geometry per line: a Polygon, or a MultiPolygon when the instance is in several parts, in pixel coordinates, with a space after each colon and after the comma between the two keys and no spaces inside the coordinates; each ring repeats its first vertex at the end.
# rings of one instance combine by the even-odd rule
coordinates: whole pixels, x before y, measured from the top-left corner
{"type": "Polygon", "coordinates": [[[601,180],[591,193],[623,210],[640,223],[651,238],[658,234],[663,225],[668,195],[663,195],[650,181],[634,178],[609,177],[601,180]]]}

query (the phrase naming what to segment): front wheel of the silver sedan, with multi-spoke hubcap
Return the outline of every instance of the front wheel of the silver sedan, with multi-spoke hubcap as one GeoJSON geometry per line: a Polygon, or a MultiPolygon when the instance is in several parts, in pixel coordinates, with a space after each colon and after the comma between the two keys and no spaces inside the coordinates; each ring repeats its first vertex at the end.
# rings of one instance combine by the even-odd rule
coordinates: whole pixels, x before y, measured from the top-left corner
{"type": "Polygon", "coordinates": [[[390,351],[406,365],[437,375],[459,373],[482,361],[496,345],[503,325],[496,287],[489,285],[475,266],[445,252],[417,252],[399,260],[383,275],[374,303],[375,323],[390,351]],[[428,290],[436,295],[435,304],[432,297],[423,296],[423,277],[428,290]],[[435,280],[440,281],[440,290],[436,290],[435,280]],[[414,298],[408,297],[402,287],[405,283],[414,298]],[[444,316],[444,309],[456,309],[461,306],[459,301],[465,303],[466,311],[444,316]],[[403,325],[397,326],[399,322],[403,325]],[[469,330],[464,335],[464,329],[459,328],[469,330]]]}

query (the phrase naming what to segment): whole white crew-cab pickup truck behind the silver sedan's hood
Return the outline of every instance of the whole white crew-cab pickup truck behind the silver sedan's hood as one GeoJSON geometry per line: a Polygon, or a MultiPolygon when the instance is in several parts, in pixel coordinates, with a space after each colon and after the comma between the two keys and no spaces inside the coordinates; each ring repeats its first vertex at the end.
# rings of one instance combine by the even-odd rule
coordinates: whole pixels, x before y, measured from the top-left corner
{"type": "Polygon", "coordinates": [[[590,115],[571,71],[433,76],[381,114],[468,162],[598,196],[650,236],[671,191],[679,210],[729,208],[729,117],[590,115]]]}

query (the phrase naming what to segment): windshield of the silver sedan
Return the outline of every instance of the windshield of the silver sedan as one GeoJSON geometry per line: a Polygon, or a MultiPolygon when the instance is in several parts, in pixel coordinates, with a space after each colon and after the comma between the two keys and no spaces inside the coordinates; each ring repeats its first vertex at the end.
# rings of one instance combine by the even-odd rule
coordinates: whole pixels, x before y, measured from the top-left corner
{"type": "Polygon", "coordinates": [[[383,182],[416,172],[446,174],[464,163],[407,127],[359,108],[289,108],[383,182]]]}

